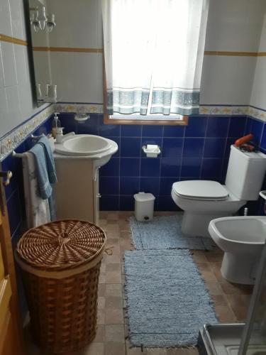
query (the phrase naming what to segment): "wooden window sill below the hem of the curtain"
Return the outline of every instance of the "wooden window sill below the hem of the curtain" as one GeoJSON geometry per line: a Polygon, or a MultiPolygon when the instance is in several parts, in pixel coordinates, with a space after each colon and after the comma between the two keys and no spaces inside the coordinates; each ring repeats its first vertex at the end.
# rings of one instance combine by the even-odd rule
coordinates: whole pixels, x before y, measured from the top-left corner
{"type": "Polygon", "coordinates": [[[160,125],[160,126],[187,126],[188,116],[182,119],[128,119],[121,116],[119,119],[111,119],[109,114],[104,114],[104,124],[135,124],[135,125],[160,125]]]}

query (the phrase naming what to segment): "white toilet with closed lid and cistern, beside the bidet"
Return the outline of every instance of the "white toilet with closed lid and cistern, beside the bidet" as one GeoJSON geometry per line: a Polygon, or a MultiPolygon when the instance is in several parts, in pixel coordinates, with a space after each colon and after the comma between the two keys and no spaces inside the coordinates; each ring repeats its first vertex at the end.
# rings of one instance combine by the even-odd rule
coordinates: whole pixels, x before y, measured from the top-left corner
{"type": "Polygon", "coordinates": [[[266,155],[231,146],[226,185],[210,180],[174,182],[172,199],[184,210],[182,231],[187,236],[210,236],[211,219],[231,216],[247,201],[257,200],[266,170],[266,155]]]}

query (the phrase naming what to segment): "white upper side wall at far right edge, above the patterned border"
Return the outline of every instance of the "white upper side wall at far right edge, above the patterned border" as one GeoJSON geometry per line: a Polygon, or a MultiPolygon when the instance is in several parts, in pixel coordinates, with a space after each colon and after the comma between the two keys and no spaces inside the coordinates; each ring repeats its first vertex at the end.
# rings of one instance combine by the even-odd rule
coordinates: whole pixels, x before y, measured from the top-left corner
{"type": "MultiPolygon", "coordinates": [[[[266,52],[266,14],[260,37],[260,52],[266,52]]],[[[257,57],[250,105],[266,109],[266,57],[257,57]]]]}

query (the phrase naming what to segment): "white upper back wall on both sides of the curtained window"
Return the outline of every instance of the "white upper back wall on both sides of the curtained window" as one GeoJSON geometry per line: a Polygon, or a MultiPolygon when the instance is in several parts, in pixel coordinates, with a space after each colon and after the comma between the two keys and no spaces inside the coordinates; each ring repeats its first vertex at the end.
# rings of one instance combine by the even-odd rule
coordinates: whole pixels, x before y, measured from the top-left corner
{"type": "MultiPolygon", "coordinates": [[[[48,0],[57,22],[50,45],[102,48],[100,2],[48,0]]],[[[265,0],[210,0],[205,50],[257,52],[265,11],[265,0]]],[[[51,65],[60,101],[103,102],[101,54],[52,52],[51,65]]],[[[255,66],[255,57],[205,55],[201,104],[248,105],[255,66]]]]}

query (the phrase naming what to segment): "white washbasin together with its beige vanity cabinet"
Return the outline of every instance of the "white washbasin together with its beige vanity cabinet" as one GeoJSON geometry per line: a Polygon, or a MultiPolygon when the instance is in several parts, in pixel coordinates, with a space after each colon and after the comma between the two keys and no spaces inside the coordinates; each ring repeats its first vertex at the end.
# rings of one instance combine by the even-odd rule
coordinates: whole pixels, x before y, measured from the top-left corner
{"type": "Polygon", "coordinates": [[[117,150],[117,144],[110,139],[84,134],[55,143],[57,219],[82,219],[98,224],[99,168],[117,150]]]}

